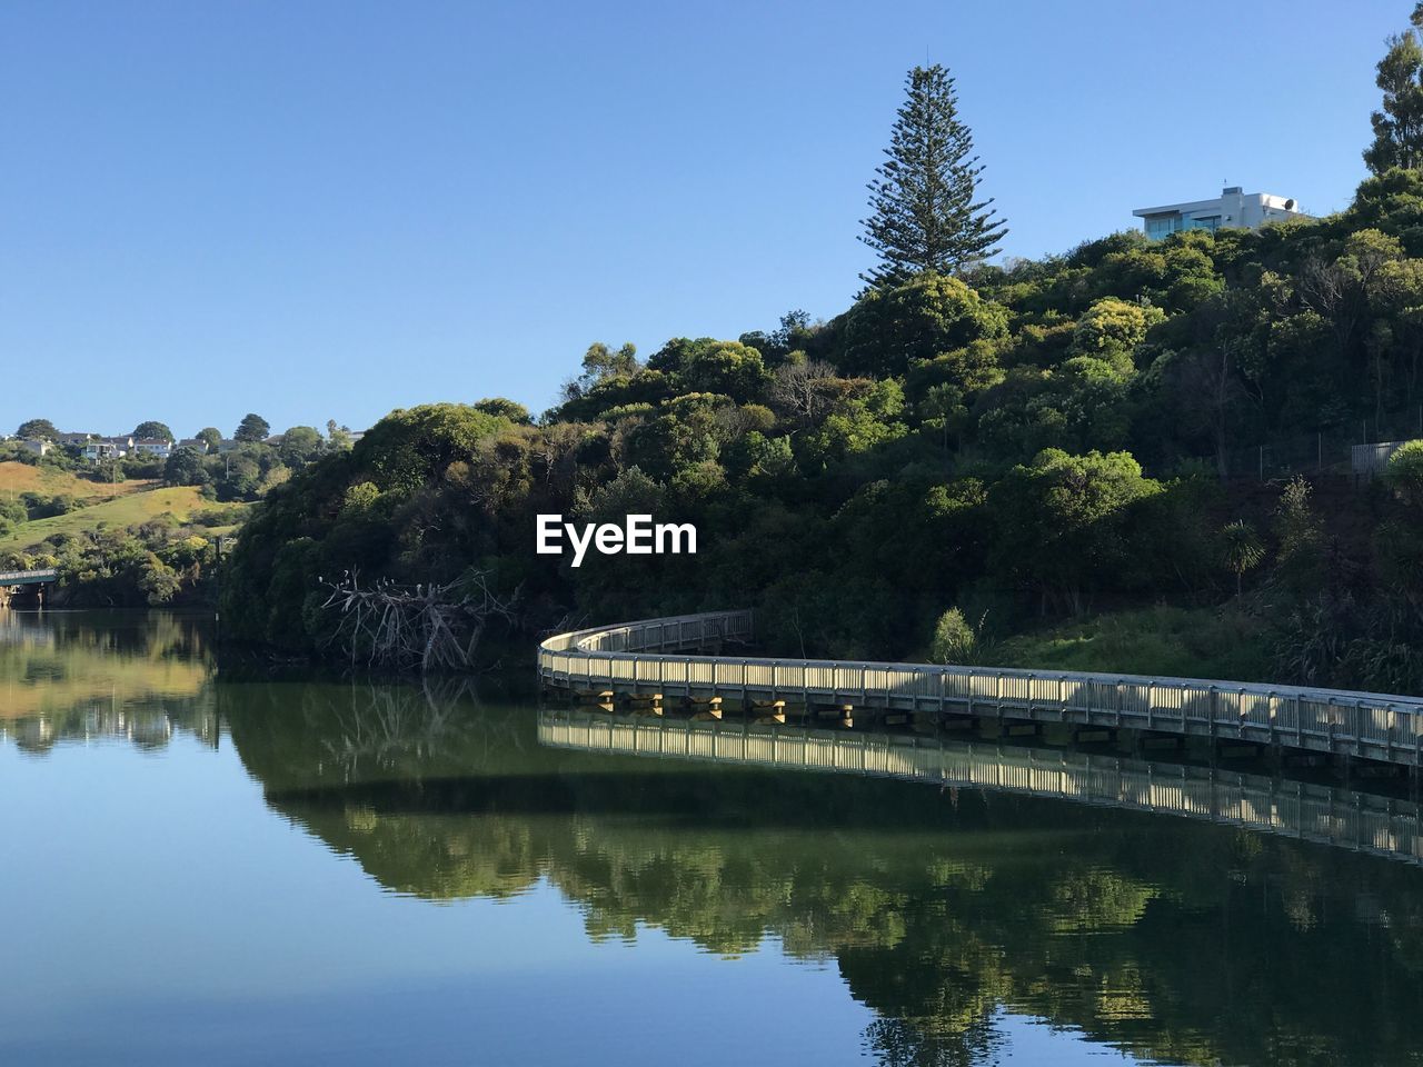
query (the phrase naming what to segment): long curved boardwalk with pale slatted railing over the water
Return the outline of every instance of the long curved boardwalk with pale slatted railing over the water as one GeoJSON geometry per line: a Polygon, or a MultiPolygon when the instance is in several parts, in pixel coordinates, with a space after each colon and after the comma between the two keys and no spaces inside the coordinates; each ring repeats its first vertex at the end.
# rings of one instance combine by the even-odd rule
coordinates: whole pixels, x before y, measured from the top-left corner
{"type": "MultiPolygon", "coordinates": [[[[541,684],[576,693],[726,697],[783,713],[838,708],[1067,723],[1238,740],[1423,768],[1423,699],[1138,674],[760,659],[726,654],[753,637],[748,610],[561,633],[539,644],[541,684]]],[[[719,711],[714,711],[719,714],[719,711]]]]}

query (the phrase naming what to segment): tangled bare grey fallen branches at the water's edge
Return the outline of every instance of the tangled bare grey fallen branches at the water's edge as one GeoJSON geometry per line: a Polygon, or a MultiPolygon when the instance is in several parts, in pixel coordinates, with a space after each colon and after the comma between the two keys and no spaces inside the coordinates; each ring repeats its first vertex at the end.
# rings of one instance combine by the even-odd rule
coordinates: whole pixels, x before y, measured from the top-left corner
{"type": "Polygon", "coordinates": [[[336,582],[324,610],[340,613],[330,642],[351,664],[394,670],[470,670],[484,629],[494,619],[512,622],[518,590],[504,599],[490,589],[488,575],[471,572],[455,582],[414,586],[379,578],[361,585],[354,570],[336,582]]]}

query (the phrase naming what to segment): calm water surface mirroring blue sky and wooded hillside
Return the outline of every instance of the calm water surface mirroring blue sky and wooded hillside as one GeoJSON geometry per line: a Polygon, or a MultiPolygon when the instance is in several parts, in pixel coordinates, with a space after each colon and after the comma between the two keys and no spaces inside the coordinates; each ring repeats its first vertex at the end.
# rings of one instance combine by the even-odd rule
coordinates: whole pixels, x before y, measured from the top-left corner
{"type": "Polygon", "coordinates": [[[1423,1058],[1410,862],[549,747],[485,690],[0,616],[0,1063],[1423,1058]]]}

